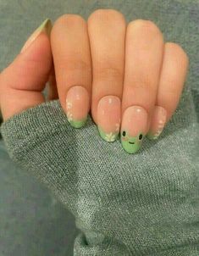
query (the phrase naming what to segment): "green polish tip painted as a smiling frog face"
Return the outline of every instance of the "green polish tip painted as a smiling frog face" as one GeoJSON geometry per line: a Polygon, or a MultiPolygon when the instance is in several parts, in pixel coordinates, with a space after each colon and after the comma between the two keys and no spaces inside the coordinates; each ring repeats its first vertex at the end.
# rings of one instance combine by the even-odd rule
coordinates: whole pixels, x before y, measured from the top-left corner
{"type": "Polygon", "coordinates": [[[139,133],[137,136],[128,136],[126,131],[121,133],[121,142],[124,150],[128,153],[136,153],[141,148],[141,142],[143,140],[143,133],[139,133]]]}

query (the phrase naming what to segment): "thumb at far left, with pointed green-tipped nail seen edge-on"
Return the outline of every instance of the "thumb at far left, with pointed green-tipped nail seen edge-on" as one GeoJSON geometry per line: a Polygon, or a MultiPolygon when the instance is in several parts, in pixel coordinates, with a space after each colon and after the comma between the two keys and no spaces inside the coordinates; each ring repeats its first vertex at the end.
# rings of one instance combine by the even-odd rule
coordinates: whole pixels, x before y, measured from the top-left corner
{"type": "Polygon", "coordinates": [[[52,65],[49,33],[52,24],[46,19],[30,36],[21,53],[0,75],[0,102],[3,120],[45,101],[44,89],[52,65]]]}

